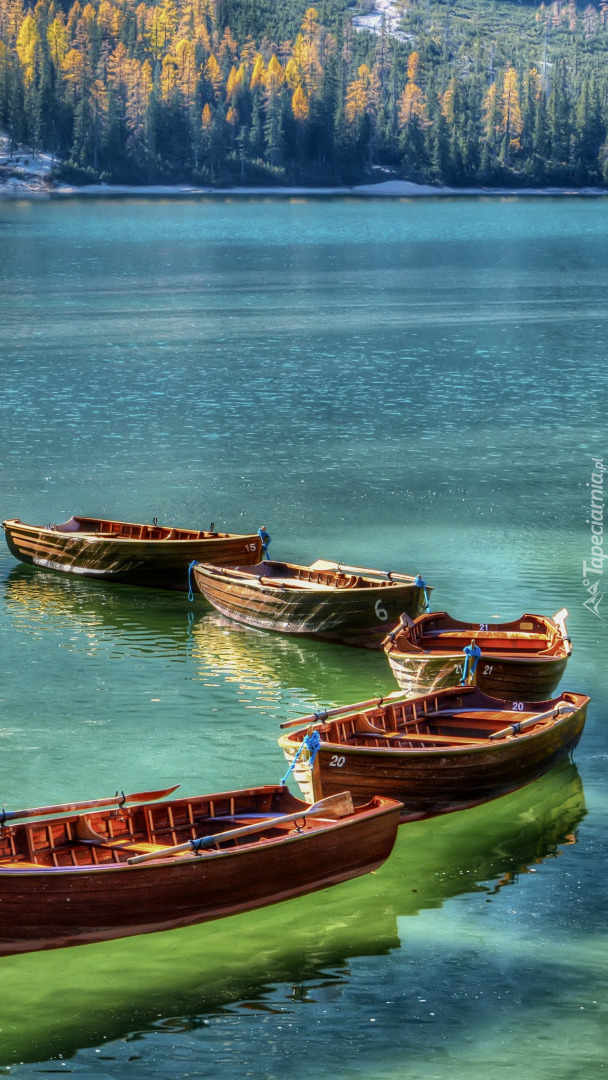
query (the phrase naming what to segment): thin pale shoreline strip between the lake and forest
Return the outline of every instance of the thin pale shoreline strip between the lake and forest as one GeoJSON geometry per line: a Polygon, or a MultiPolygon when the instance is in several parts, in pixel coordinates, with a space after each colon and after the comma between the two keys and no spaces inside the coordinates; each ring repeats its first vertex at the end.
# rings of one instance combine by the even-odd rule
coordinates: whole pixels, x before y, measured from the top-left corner
{"type": "Polygon", "coordinates": [[[42,178],[11,178],[0,184],[0,201],[23,199],[479,199],[479,198],[606,198],[608,188],[543,187],[543,188],[435,188],[431,185],[411,184],[408,180],[386,180],[379,184],[361,184],[339,187],[233,187],[212,188],[193,185],[127,185],[49,184],[42,178]]]}

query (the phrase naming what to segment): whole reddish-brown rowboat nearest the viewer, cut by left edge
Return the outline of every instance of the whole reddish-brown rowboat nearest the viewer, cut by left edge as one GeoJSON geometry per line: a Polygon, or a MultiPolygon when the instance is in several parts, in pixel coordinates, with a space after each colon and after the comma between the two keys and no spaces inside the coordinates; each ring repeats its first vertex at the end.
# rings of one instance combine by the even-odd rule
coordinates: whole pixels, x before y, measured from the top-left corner
{"type": "Polygon", "coordinates": [[[401,809],[353,810],[348,792],[310,807],[280,785],[135,799],[0,815],[0,955],[205,922],[367,874],[401,809]]]}

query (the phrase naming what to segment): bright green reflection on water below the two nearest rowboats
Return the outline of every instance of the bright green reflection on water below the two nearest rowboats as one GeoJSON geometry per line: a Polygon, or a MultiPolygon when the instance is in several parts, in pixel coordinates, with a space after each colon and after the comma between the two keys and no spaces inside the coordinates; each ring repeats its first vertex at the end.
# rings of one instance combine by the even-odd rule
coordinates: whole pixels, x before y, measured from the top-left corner
{"type": "Polygon", "coordinates": [[[163,1017],[174,1031],[237,1004],[272,1008],[278,984],[281,1007],[294,1002],[294,986],[301,999],[320,980],[340,996],[357,977],[352,957],[400,948],[400,917],[458,895],[516,890],[519,875],[576,842],[584,814],[579,774],[565,764],[486,806],[402,826],[374,875],[215,923],[5,957],[0,1059],[66,1058],[134,1032],[140,1039],[163,1017]]]}

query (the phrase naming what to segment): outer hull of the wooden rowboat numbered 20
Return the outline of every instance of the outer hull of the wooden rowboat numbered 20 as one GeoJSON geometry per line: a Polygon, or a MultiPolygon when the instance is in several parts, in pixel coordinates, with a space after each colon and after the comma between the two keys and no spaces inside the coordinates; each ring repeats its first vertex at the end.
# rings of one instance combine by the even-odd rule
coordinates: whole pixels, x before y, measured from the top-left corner
{"type": "MultiPolygon", "coordinates": [[[[370,792],[398,799],[402,821],[464,810],[524,787],[568,758],[581,738],[589,701],[580,699],[579,707],[554,724],[467,747],[349,746],[321,728],[321,747],[312,770],[305,748],[295,765],[294,779],[307,799],[343,788],[351,792],[355,805],[369,798],[370,792]]],[[[526,708],[529,703],[522,705],[526,708]]],[[[504,725],[515,717],[505,711],[504,725]]],[[[294,735],[282,735],[279,743],[292,764],[300,743],[294,735]]]]}

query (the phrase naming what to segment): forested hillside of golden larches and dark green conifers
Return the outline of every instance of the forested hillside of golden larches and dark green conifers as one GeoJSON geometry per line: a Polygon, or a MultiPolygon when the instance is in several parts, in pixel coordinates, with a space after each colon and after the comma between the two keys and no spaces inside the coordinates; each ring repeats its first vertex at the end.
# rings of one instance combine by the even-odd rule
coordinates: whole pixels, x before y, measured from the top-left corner
{"type": "Polygon", "coordinates": [[[0,0],[0,127],[76,183],[608,183],[608,0],[362,3],[0,0]]]}

